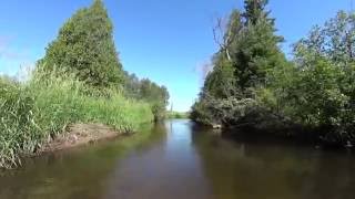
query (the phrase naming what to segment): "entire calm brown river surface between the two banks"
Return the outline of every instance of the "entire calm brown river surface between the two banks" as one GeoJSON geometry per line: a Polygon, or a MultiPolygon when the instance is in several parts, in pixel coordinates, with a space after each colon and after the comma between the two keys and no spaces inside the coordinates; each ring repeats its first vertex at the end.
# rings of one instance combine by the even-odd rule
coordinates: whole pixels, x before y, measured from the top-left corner
{"type": "Polygon", "coordinates": [[[353,199],[355,158],[232,142],[189,121],[29,159],[0,176],[4,199],[353,199]]]}

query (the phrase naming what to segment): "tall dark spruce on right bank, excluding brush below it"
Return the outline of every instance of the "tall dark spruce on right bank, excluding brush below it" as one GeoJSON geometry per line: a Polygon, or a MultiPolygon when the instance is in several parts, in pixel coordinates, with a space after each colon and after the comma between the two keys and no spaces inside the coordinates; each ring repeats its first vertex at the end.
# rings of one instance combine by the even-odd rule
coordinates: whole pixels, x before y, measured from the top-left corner
{"type": "Polygon", "coordinates": [[[275,35],[274,19],[268,17],[266,3],[267,0],[245,1],[244,29],[231,46],[235,77],[242,91],[266,85],[267,73],[286,61],[278,48],[283,38],[275,35]]]}

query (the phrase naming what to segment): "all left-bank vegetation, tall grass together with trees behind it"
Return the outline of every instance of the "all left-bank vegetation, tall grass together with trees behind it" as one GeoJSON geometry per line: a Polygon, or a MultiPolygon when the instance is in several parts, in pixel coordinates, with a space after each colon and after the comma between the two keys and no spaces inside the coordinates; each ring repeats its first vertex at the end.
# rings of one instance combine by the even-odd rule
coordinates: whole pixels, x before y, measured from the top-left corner
{"type": "Polygon", "coordinates": [[[165,117],[168,90],[123,71],[112,31],[94,0],[64,23],[27,81],[0,76],[0,168],[19,167],[21,157],[55,143],[134,133],[165,117]],[[79,134],[80,124],[101,128],[79,134]]]}

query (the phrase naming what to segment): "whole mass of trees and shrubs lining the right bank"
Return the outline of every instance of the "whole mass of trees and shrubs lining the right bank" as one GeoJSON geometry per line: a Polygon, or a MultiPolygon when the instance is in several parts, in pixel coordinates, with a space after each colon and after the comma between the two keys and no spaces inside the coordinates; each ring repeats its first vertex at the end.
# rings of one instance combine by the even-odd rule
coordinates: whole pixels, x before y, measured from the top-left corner
{"type": "Polygon", "coordinates": [[[355,14],[339,11],[281,51],[267,0],[245,0],[230,17],[213,71],[191,118],[207,125],[256,129],[297,127],[297,134],[351,145],[355,127],[355,14]]]}

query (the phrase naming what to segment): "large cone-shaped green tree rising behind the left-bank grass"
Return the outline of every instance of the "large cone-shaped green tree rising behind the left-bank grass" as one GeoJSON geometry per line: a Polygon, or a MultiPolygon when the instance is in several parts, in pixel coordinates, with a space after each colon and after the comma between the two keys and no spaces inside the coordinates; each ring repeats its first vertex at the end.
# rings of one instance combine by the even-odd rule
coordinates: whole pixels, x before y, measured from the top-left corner
{"type": "Polygon", "coordinates": [[[92,86],[121,84],[123,71],[112,31],[103,2],[94,0],[90,8],[79,10],[64,23],[39,65],[44,71],[57,67],[74,73],[92,86]]]}

